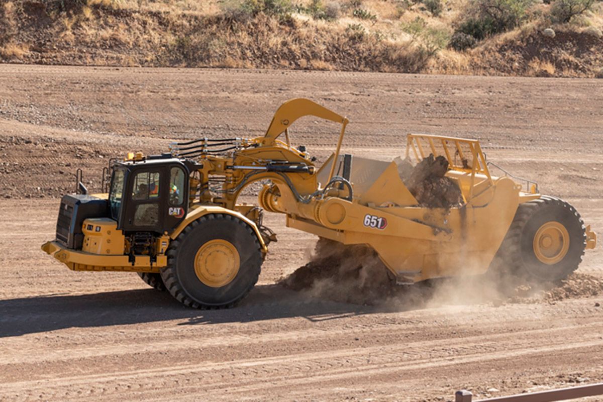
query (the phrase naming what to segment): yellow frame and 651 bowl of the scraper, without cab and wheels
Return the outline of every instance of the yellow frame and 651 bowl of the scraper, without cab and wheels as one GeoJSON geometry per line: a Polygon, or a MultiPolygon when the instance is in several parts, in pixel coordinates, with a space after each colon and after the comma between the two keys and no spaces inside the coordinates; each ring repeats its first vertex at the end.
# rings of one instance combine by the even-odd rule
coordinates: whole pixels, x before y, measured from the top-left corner
{"type": "MultiPolygon", "coordinates": [[[[362,174],[350,177],[352,196],[346,187],[330,185],[336,178],[347,124],[343,116],[308,99],[292,99],[279,107],[264,136],[238,140],[237,148],[228,155],[200,155],[195,160],[200,168],[190,180],[189,213],[161,241],[175,239],[203,215],[227,213],[253,227],[262,251],[267,253],[257,217],[253,216],[256,212],[238,205],[237,199],[249,184],[269,179],[272,184],[259,193],[260,207],[284,213],[288,227],[344,244],[369,245],[401,280],[480,274],[488,269],[519,204],[540,197],[535,187],[522,192],[511,178],[491,175],[478,140],[426,134],[408,134],[406,157],[417,162],[429,154],[446,157],[446,175],[458,183],[464,198],[462,206],[420,206],[400,179],[396,162],[368,159],[362,160],[362,174]],[[291,124],[308,115],[341,124],[335,152],[321,169],[289,139],[291,124]],[[279,140],[282,134],[284,142],[279,140]],[[294,172],[279,169],[285,163],[301,168],[294,172]],[[365,174],[375,180],[363,182],[365,174]],[[210,179],[215,177],[223,178],[219,189],[210,187],[210,179]]],[[[172,154],[179,155],[177,146],[172,146],[172,154]]],[[[587,236],[587,247],[593,248],[596,237],[590,227],[587,236]]],[[[137,258],[131,265],[123,254],[66,250],[57,242],[46,243],[43,250],[76,270],[159,272],[166,265],[165,247],[153,266],[148,257],[137,258]]]]}

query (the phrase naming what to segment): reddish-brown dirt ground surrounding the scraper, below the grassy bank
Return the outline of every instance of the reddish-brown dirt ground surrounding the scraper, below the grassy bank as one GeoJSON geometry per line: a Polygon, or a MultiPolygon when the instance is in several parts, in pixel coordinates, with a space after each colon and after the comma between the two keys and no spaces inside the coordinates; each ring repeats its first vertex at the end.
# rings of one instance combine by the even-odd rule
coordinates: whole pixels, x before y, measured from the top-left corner
{"type": "MultiPolygon", "coordinates": [[[[275,284],[316,240],[280,215],[267,216],[279,242],[258,286],[232,310],[191,310],[135,274],[71,272],[40,251],[77,167],[98,189],[110,157],[261,135],[294,97],[347,115],[356,155],[390,159],[408,132],[478,137],[603,232],[603,80],[3,65],[1,401],[444,401],[603,381],[596,291],[529,303],[459,291],[404,309],[320,300],[275,284]]],[[[324,160],[338,128],[300,123],[294,142],[324,160]]],[[[602,259],[598,246],[578,270],[595,287],[602,259]]]]}

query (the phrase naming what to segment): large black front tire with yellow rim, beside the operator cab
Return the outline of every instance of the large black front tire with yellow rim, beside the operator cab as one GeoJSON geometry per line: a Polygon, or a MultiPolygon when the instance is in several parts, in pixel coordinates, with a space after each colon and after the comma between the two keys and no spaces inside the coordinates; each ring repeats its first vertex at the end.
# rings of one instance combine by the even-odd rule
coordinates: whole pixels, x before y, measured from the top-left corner
{"type": "Polygon", "coordinates": [[[195,309],[235,306],[257,283],[263,260],[253,229],[226,214],[205,215],[191,222],[169,243],[166,254],[168,265],[161,272],[163,283],[180,303],[195,309]],[[204,251],[212,245],[217,248],[216,253],[204,251]],[[223,257],[229,250],[236,255],[236,263],[235,258],[223,257]],[[226,261],[233,269],[226,273],[213,269],[216,254],[222,256],[217,257],[219,262],[226,261]]]}

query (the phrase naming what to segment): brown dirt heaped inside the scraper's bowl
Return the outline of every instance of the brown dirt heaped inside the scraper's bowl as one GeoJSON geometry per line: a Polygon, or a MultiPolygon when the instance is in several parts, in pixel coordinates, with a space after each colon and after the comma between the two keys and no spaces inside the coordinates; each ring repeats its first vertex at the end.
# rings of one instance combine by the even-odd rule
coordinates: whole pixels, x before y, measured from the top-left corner
{"type": "Polygon", "coordinates": [[[414,167],[404,160],[396,160],[398,173],[420,206],[430,208],[458,207],[463,203],[461,190],[448,177],[445,157],[429,154],[414,167]]]}

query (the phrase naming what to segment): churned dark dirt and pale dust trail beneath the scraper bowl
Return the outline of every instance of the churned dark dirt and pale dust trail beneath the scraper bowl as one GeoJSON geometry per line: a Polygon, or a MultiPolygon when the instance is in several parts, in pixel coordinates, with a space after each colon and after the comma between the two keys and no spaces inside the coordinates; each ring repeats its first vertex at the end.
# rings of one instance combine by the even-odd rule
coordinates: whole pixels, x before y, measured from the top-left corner
{"type": "Polygon", "coordinates": [[[280,284],[311,297],[391,310],[455,304],[554,303],[603,294],[603,280],[591,275],[574,273],[557,283],[529,284],[503,269],[400,285],[372,248],[323,238],[316,243],[310,262],[280,284]]]}

